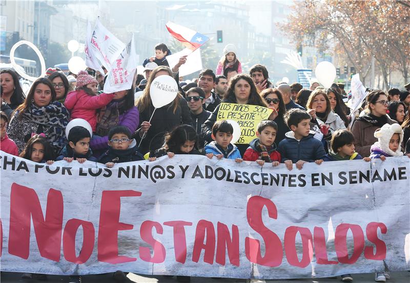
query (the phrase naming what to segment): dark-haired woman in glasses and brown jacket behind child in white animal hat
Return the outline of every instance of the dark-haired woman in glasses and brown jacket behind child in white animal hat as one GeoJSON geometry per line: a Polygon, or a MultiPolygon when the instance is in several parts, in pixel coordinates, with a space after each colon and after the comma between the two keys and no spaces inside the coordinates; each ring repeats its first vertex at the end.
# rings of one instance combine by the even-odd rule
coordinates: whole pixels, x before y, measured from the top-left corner
{"type": "Polygon", "coordinates": [[[397,123],[387,115],[387,95],[381,90],[371,91],[367,95],[367,114],[356,119],[352,126],[355,137],[355,150],[362,157],[370,156],[370,147],[377,142],[374,133],[384,124],[397,123]]]}

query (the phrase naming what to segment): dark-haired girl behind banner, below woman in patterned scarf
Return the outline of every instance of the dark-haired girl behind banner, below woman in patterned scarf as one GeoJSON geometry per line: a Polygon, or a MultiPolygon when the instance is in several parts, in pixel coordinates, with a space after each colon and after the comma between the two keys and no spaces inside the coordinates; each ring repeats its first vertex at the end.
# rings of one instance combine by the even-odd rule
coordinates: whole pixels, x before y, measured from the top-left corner
{"type": "Polygon", "coordinates": [[[44,134],[32,134],[20,157],[37,163],[54,163],[54,150],[44,134]]]}

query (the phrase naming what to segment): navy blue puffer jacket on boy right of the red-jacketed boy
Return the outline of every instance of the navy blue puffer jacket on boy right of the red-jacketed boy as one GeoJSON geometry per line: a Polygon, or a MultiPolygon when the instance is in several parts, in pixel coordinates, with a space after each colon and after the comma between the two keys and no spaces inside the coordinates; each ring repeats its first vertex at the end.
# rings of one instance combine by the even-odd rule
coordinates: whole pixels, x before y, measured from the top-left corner
{"type": "Polygon", "coordinates": [[[322,159],[326,153],[323,143],[314,138],[315,132],[311,131],[309,136],[303,137],[300,141],[295,139],[292,131],[286,133],[286,138],[279,143],[278,151],[282,157],[282,162],[292,160],[293,163],[299,160],[314,162],[322,159]]]}

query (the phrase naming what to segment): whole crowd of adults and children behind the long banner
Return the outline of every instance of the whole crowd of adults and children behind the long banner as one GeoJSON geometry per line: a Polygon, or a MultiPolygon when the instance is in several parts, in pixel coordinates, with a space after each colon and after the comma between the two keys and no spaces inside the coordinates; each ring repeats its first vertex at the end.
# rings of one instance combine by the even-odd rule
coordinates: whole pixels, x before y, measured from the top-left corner
{"type": "MultiPolygon", "coordinates": [[[[262,64],[242,73],[232,44],[224,48],[215,73],[202,70],[187,83],[178,77],[186,56],[170,69],[168,47],[160,43],[154,49],[155,56],[144,61],[144,75],[135,74],[129,90],[110,94],[103,92],[107,75],[89,68],[68,76],[49,69],[27,95],[14,71],[1,71],[1,150],[49,165],[56,160],[89,160],[107,167],[180,154],[260,166],[284,163],[289,170],[302,169],[307,162],[410,157],[410,84],[401,91],[368,90],[352,121],[345,103],[350,94],[343,84],[326,89],[312,81],[310,89],[304,89],[297,82],[273,83],[262,64]],[[161,75],[174,77],[179,93],[170,104],[157,108],[151,119],[155,108],[150,86],[161,75]],[[232,144],[232,125],[218,120],[221,102],[268,107],[272,114],[260,121],[249,144],[232,144]],[[75,118],[85,119],[92,130],[75,126],[66,136],[66,126],[75,118]]],[[[25,273],[23,278],[33,276],[45,277],[25,273]]],[[[124,280],[125,273],[117,271],[115,278],[124,280]]],[[[387,271],[376,273],[376,281],[386,278],[387,271]]],[[[189,281],[184,276],[177,279],[189,281]]],[[[71,279],[78,280],[80,276],[71,279]]],[[[342,280],[353,277],[345,274],[342,280]]]]}

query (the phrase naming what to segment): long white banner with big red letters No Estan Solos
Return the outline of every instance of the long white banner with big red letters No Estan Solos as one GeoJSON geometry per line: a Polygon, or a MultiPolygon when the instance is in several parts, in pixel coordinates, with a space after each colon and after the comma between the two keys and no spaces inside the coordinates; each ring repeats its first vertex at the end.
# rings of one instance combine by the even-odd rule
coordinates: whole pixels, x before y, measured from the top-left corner
{"type": "Polygon", "coordinates": [[[407,157],[289,171],[187,155],[106,168],[0,154],[2,271],[278,279],[410,269],[407,157]]]}

